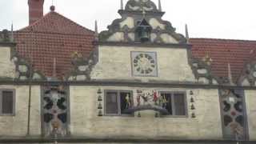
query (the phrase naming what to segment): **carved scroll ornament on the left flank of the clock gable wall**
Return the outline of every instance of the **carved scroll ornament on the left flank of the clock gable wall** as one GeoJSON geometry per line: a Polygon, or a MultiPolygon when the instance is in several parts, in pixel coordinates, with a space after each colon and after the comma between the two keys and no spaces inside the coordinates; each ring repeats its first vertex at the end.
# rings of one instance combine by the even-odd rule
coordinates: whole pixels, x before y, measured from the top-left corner
{"type": "Polygon", "coordinates": [[[94,65],[98,62],[97,52],[94,50],[89,58],[85,58],[82,54],[74,52],[73,54],[73,70],[66,76],[68,81],[85,81],[90,80],[90,72],[94,65]]]}

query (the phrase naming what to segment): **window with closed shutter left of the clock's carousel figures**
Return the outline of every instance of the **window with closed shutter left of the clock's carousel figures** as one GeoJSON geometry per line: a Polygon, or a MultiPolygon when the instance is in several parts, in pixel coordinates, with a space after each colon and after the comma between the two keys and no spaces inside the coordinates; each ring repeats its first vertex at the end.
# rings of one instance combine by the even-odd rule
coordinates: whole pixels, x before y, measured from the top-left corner
{"type": "Polygon", "coordinates": [[[105,91],[105,114],[125,115],[125,110],[133,106],[132,92],[127,90],[105,91]]]}

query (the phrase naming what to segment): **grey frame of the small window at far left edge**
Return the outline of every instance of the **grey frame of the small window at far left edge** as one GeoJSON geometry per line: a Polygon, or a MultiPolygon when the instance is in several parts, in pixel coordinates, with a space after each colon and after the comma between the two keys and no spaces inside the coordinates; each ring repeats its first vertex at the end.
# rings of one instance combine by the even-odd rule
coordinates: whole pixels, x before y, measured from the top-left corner
{"type": "Polygon", "coordinates": [[[16,114],[16,91],[14,89],[0,89],[0,116],[15,116],[16,114]],[[2,113],[2,92],[11,91],[13,93],[13,111],[11,114],[2,113]]]}

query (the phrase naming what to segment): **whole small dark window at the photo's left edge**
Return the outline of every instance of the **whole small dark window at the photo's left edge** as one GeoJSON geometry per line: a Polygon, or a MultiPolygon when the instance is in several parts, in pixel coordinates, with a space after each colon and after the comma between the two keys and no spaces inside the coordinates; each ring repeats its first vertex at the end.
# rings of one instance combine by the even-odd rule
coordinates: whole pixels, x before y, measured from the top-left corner
{"type": "Polygon", "coordinates": [[[0,115],[14,115],[14,90],[0,90],[0,115]]]}

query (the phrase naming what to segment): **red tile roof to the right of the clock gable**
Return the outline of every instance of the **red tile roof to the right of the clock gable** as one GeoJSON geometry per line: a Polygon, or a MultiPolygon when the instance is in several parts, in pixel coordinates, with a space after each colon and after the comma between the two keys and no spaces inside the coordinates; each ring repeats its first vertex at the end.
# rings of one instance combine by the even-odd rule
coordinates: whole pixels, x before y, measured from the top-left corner
{"type": "Polygon", "coordinates": [[[256,58],[256,41],[191,38],[190,43],[194,58],[210,55],[212,72],[218,77],[228,77],[230,62],[234,82],[238,81],[245,64],[256,58]]]}

